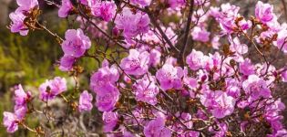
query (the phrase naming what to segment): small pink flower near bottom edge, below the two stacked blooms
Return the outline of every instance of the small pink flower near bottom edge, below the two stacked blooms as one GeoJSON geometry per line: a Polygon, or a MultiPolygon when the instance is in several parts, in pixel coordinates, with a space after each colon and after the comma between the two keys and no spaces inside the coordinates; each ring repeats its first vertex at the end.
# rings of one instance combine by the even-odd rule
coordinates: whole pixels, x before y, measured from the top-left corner
{"type": "Polygon", "coordinates": [[[104,132],[112,132],[118,124],[118,113],[104,111],[102,119],[104,121],[104,132]]]}

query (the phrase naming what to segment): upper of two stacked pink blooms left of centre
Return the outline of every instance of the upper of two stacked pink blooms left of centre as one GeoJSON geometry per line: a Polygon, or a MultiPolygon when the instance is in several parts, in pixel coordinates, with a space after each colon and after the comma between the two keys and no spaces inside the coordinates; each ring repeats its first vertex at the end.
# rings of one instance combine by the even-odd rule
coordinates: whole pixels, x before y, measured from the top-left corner
{"type": "Polygon", "coordinates": [[[119,73],[115,65],[108,67],[108,60],[104,60],[102,68],[99,68],[90,78],[91,90],[97,91],[103,90],[107,85],[115,86],[118,81],[119,73]]]}

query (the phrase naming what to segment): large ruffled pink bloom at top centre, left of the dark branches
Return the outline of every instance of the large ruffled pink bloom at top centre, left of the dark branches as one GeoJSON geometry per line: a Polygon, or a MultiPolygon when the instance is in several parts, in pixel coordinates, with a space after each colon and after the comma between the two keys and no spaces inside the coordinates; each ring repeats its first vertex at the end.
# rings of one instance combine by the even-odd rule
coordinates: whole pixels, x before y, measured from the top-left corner
{"type": "Polygon", "coordinates": [[[124,30],[124,37],[136,37],[140,33],[149,31],[149,16],[147,14],[133,14],[129,8],[125,7],[121,14],[115,19],[115,24],[118,29],[124,30]]]}

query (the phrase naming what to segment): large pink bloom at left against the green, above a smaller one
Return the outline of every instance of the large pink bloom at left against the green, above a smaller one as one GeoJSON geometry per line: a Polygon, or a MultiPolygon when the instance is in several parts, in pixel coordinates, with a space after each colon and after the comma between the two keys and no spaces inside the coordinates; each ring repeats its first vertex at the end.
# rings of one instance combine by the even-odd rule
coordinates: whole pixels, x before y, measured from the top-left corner
{"type": "Polygon", "coordinates": [[[90,39],[85,36],[82,29],[68,29],[65,34],[66,40],[62,43],[62,49],[67,56],[79,58],[91,47],[90,39]]]}

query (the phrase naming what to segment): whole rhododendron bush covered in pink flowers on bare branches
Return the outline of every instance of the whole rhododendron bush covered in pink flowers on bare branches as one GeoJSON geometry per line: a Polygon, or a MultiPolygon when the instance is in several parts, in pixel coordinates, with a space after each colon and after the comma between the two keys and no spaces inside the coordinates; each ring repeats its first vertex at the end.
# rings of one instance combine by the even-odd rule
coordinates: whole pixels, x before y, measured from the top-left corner
{"type": "Polygon", "coordinates": [[[287,136],[278,94],[287,66],[275,65],[287,54],[287,24],[273,5],[258,1],[253,16],[242,16],[240,6],[220,0],[46,0],[58,17],[79,24],[59,36],[39,21],[45,10],[36,0],[16,2],[11,32],[51,35],[63,50],[57,67],[75,84],[68,90],[67,78],[54,76],[37,94],[19,84],[14,111],[3,114],[7,132],[49,136],[25,120],[36,114],[56,126],[49,105],[60,99],[67,117],[100,115],[107,136],[287,136]],[[80,62],[87,58],[99,68],[83,81],[80,62]]]}

